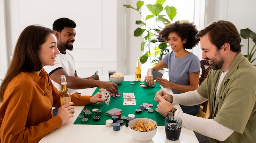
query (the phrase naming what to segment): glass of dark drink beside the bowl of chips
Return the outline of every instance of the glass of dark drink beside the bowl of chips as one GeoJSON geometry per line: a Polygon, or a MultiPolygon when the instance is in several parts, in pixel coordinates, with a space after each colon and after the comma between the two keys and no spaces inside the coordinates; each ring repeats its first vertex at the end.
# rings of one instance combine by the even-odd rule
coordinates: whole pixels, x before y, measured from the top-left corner
{"type": "Polygon", "coordinates": [[[164,118],[164,127],[166,138],[171,141],[176,141],[180,137],[182,119],[179,117],[169,116],[164,118]]]}

